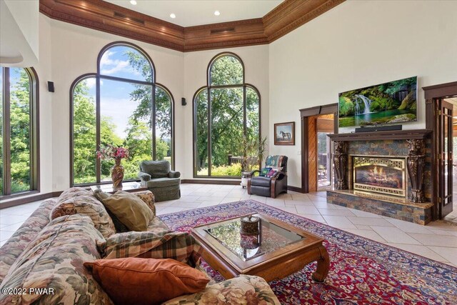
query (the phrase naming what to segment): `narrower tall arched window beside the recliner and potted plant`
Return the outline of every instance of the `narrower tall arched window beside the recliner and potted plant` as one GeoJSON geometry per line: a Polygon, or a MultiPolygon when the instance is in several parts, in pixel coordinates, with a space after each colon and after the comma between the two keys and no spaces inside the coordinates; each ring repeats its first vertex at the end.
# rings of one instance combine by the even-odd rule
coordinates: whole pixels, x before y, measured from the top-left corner
{"type": "Polygon", "coordinates": [[[236,54],[218,54],[194,95],[194,176],[240,176],[246,141],[258,139],[260,94],[236,54]]]}

